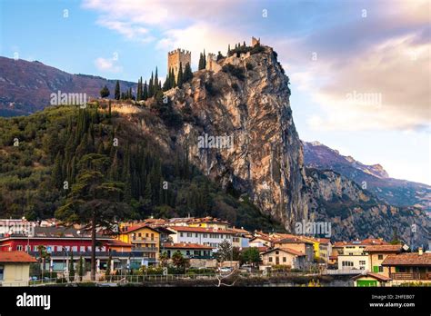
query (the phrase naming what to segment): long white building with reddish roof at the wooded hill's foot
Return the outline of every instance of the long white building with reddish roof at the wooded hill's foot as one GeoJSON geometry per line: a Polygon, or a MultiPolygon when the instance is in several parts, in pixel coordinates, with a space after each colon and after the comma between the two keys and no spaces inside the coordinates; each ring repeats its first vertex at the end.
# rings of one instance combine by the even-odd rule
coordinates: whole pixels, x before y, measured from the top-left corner
{"type": "Polygon", "coordinates": [[[174,232],[171,237],[175,243],[197,243],[213,248],[218,248],[223,241],[232,244],[233,237],[236,235],[236,232],[209,227],[171,226],[167,228],[174,232]]]}

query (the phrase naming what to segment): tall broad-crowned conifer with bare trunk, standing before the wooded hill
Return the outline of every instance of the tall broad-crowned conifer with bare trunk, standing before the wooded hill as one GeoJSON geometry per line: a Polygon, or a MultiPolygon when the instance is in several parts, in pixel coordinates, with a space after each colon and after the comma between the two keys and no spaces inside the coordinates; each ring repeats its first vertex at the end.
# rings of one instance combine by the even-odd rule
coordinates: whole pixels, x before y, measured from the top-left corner
{"type": "Polygon", "coordinates": [[[91,280],[95,281],[95,232],[97,227],[110,229],[117,218],[122,218],[130,208],[122,202],[125,183],[108,180],[111,161],[105,154],[85,154],[78,163],[80,171],[65,205],[55,217],[67,225],[85,225],[91,232],[91,280]]]}

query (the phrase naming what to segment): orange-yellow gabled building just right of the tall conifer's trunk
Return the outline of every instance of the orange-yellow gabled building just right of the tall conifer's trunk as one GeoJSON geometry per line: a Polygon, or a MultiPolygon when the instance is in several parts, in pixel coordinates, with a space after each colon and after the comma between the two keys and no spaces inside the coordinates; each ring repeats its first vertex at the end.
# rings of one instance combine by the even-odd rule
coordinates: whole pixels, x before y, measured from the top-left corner
{"type": "Polygon", "coordinates": [[[128,226],[120,225],[120,232],[116,237],[121,242],[132,244],[133,251],[143,252],[143,256],[158,262],[160,249],[160,232],[145,223],[128,226]]]}

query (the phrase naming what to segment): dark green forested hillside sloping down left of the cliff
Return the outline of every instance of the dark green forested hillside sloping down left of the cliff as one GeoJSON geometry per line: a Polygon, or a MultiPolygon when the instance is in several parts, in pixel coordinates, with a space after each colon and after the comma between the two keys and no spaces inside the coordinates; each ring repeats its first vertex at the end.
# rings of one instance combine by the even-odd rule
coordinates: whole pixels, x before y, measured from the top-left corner
{"type": "MultiPolygon", "coordinates": [[[[149,111],[134,116],[159,121],[149,111]]],[[[52,217],[80,179],[97,171],[121,188],[117,198],[132,206],[129,218],[211,215],[247,229],[282,229],[234,191],[223,192],[185,157],[185,151],[167,155],[123,115],[111,115],[107,103],[2,118],[0,217],[52,217]]]]}

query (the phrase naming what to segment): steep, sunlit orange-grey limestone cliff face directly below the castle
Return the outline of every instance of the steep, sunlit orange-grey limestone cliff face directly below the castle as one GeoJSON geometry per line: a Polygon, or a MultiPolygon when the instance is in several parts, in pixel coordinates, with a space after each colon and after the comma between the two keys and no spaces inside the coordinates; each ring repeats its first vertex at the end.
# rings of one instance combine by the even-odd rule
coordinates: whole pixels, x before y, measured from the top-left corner
{"type": "Polygon", "coordinates": [[[176,143],[203,173],[224,187],[232,183],[290,228],[307,216],[308,208],[288,78],[270,47],[220,64],[224,70],[197,72],[190,84],[168,93],[175,108],[184,112],[189,107],[195,120],[183,125],[176,143]],[[233,145],[199,148],[198,137],[205,133],[231,137],[233,145]]]}

